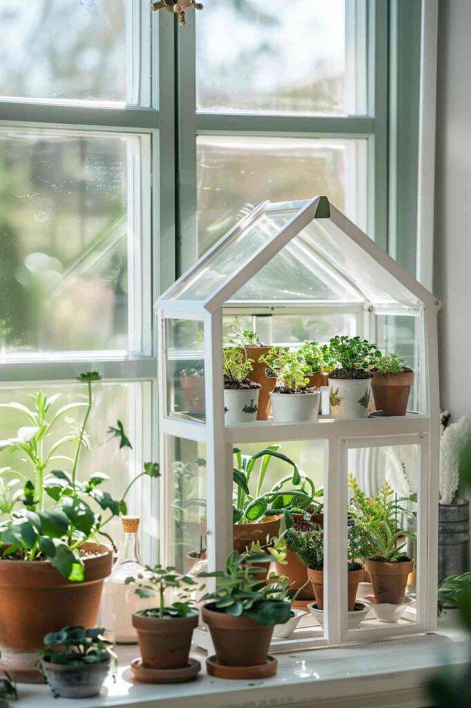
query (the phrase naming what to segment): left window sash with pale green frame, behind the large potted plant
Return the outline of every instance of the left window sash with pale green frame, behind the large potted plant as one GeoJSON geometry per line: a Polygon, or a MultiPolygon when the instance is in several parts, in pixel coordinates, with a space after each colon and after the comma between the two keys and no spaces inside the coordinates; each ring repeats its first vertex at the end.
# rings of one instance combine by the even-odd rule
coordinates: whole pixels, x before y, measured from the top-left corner
{"type": "MultiPolygon", "coordinates": [[[[81,465],[110,474],[118,496],[158,458],[153,300],[175,273],[173,190],[161,189],[174,173],[162,98],[173,21],[147,0],[6,0],[0,24],[0,403],[41,390],[69,404],[85,393],[77,375],[100,372],[81,465]],[[118,419],[132,450],[110,440],[118,419]]],[[[2,438],[24,425],[0,408],[2,438]]],[[[149,559],[156,492],[129,500],[149,559]]]]}

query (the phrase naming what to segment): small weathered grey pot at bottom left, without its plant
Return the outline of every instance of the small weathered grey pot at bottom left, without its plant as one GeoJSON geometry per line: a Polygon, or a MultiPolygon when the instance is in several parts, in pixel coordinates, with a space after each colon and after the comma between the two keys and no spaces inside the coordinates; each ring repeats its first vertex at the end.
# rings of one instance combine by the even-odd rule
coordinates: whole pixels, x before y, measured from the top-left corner
{"type": "Polygon", "coordinates": [[[92,698],[100,693],[103,681],[110,670],[110,661],[83,666],[66,666],[43,659],[42,667],[54,698],[58,696],[92,698]]]}

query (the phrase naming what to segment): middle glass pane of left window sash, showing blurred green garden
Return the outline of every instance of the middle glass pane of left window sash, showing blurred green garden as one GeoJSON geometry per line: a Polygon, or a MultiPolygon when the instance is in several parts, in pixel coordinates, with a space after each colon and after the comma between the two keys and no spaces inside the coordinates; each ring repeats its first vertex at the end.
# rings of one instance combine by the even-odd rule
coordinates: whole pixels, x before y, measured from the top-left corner
{"type": "MultiPolygon", "coordinates": [[[[146,136],[0,129],[4,353],[140,352],[132,197],[149,151],[146,136]]],[[[144,168],[141,177],[144,198],[144,168]]]]}

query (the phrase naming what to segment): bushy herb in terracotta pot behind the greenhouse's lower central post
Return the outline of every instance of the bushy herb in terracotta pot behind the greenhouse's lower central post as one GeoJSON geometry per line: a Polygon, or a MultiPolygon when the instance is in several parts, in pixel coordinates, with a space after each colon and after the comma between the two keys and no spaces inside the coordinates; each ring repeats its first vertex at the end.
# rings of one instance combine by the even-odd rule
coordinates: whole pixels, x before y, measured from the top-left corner
{"type": "MultiPolygon", "coordinates": [[[[324,609],[324,529],[314,525],[308,531],[291,528],[284,537],[286,549],[297,554],[308,569],[317,610],[324,609]]],[[[358,525],[349,525],[347,536],[348,611],[355,611],[356,591],[364,578],[364,566],[359,561],[371,549],[368,534],[358,525]]]]}

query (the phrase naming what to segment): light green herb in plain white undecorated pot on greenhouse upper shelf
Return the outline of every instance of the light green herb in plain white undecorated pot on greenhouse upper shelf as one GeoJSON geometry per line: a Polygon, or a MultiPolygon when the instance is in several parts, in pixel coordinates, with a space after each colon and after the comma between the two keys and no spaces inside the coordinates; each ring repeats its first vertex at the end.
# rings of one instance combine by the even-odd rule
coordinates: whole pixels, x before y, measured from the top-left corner
{"type": "Polygon", "coordinates": [[[275,423],[317,421],[320,391],[308,387],[308,367],[297,353],[287,347],[273,348],[262,360],[277,377],[277,385],[270,394],[275,423]]]}

